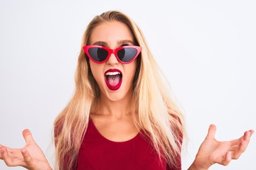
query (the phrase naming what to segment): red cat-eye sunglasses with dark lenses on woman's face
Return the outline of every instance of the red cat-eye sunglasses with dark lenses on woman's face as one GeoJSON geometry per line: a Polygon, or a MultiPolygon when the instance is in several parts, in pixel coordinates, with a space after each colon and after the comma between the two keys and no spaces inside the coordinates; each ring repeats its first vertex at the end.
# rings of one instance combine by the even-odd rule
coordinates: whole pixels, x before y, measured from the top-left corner
{"type": "Polygon", "coordinates": [[[85,45],[83,50],[85,51],[87,57],[89,57],[92,62],[96,62],[97,64],[106,62],[112,53],[115,57],[117,57],[119,62],[122,64],[128,64],[133,62],[136,57],[138,57],[139,53],[142,51],[142,47],[127,45],[118,47],[116,49],[110,49],[101,45],[85,45]]]}

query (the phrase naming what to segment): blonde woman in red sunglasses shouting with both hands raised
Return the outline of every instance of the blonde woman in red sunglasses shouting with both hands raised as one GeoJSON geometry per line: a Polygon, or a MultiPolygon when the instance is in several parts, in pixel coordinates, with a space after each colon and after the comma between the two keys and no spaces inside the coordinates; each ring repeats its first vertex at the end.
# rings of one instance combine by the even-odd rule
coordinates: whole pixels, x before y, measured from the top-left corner
{"type": "MultiPolygon", "coordinates": [[[[55,169],[181,169],[183,115],[139,27],[119,11],[96,16],[82,39],[75,94],[54,124],[55,169]]],[[[188,169],[238,159],[254,131],[206,140],[188,169]]],[[[22,149],[0,146],[7,166],[51,169],[29,130],[22,149]]]]}

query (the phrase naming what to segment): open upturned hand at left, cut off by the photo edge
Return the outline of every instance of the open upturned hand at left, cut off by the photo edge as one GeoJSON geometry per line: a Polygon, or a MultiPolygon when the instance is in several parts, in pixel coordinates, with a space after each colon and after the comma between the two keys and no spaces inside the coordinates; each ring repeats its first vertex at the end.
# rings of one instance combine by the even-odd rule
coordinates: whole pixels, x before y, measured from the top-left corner
{"type": "Polygon", "coordinates": [[[33,140],[31,132],[26,129],[22,134],[26,145],[21,149],[0,145],[0,159],[3,159],[7,166],[23,166],[30,170],[50,170],[50,164],[41,148],[33,140]]]}

